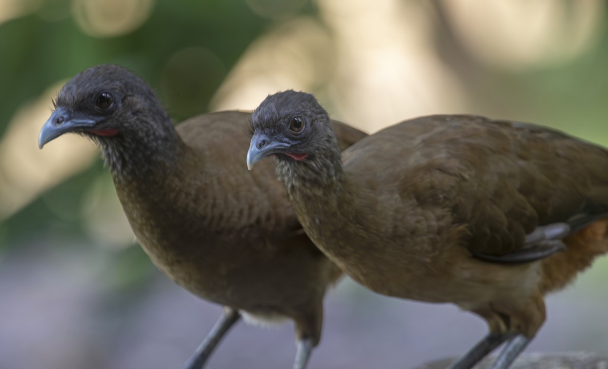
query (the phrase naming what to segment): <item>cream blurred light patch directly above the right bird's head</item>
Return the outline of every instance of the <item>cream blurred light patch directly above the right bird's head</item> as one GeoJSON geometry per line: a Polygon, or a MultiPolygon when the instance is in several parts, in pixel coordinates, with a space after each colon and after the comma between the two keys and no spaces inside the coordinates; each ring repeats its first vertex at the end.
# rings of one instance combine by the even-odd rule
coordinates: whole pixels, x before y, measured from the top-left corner
{"type": "Polygon", "coordinates": [[[318,21],[296,18],[261,36],[244,53],[213,97],[213,110],[255,109],[278,90],[327,84],[336,62],[331,36],[318,21]]]}

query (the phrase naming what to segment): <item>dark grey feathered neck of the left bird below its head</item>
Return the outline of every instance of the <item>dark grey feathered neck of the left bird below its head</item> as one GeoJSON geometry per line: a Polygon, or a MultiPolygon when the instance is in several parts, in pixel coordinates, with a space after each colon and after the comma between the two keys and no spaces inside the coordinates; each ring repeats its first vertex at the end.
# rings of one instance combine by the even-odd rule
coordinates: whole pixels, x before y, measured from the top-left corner
{"type": "Polygon", "coordinates": [[[136,129],[109,138],[98,138],[102,156],[115,180],[144,179],[159,175],[160,168],[173,166],[185,150],[171,121],[162,124],[138,124],[136,129]]]}

